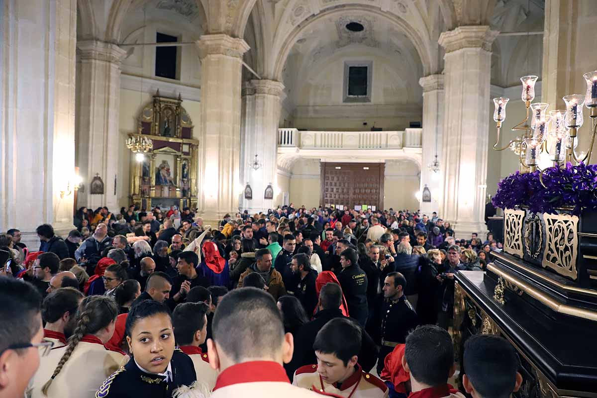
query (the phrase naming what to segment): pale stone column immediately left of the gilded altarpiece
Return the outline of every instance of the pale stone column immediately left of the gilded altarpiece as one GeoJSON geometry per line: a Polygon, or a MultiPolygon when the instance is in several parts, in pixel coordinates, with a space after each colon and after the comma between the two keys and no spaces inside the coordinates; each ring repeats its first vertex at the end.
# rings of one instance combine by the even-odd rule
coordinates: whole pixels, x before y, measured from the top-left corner
{"type": "Polygon", "coordinates": [[[110,211],[118,211],[121,203],[118,203],[115,184],[122,183],[118,163],[128,162],[128,159],[119,158],[118,147],[120,66],[126,51],[115,44],[96,40],[77,42],[77,50],[76,163],[85,183],[77,202],[79,206],[92,209],[107,206],[110,211]],[[104,182],[103,195],[90,195],[90,183],[96,174],[104,182]]]}

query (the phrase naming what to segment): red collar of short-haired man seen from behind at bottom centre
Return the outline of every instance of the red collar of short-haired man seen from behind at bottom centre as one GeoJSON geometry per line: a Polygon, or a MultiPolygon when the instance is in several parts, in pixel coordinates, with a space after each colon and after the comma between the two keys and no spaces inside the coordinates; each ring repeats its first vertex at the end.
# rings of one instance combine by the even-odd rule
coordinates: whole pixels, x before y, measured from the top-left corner
{"type": "Polygon", "coordinates": [[[222,371],[217,378],[214,391],[216,391],[218,388],[227,387],[228,385],[256,381],[277,381],[290,383],[290,380],[288,380],[288,376],[286,375],[286,371],[278,362],[259,360],[238,363],[236,365],[230,366],[230,368],[224,369],[224,371],[222,371]]]}

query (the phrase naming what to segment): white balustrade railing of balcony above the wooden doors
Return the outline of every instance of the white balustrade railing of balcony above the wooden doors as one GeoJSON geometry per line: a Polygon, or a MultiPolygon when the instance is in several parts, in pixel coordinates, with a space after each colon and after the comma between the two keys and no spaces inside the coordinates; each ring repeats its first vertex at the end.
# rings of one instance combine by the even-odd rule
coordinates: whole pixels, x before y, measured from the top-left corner
{"type": "Polygon", "coordinates": [[[420,128],[404,131],[298,131],[278,129],[278,147],[301,149],[420,148],[420,128]]]}

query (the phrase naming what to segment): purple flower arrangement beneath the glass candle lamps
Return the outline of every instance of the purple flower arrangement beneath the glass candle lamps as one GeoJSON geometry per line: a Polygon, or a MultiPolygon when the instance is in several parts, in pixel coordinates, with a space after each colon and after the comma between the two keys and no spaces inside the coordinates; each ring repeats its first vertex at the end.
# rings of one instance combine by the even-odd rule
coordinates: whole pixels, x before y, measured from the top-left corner
{"type": "Polygon", "coordinates": [[[557,208],[572,208],[574,215],[585,209],[597,210],[597,165],[567,163],[563,168],[547,168],[543,184],[539,174],[517,171],[501,180],[493,205],[503,209],[522,206],[531,212],[552,214],[557,208]]]}

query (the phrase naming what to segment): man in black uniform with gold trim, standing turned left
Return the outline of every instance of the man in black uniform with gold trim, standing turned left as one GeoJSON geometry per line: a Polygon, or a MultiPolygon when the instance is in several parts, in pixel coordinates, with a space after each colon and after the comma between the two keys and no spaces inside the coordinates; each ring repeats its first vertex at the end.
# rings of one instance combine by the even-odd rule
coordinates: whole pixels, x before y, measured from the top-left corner
{"type": "MultiPolygon", "coordinates": [[[[377,361],[377,374],[381,374],[384,359],[398,344],[404,344],[412,329],[418,325],[413,306],[404,295],[407,280],[399,272],[387,274],[383,284],[383,303],[376,304],[374,339],[381,344],[377,361]]],[[[381,295],[378,297],[381,299],[381,295]]]]}

